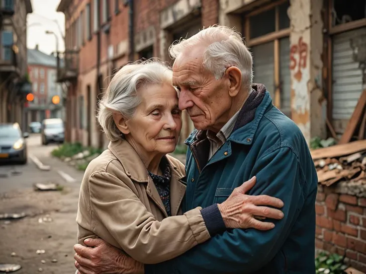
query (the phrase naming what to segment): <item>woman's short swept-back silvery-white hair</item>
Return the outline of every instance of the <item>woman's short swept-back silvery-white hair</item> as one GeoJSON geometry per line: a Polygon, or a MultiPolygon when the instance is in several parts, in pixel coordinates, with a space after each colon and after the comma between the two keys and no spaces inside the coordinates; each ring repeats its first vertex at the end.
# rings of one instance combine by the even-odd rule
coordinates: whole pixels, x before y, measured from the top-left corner
{"type": "Polygon", "coordinates": [[[112,77],[106,92],[99,101],[97,120],[107,138],[115,141],[123,138],[113,120],[119,112],[129,119],[141,103],[137,90],[143,85],[172,84],[172,70],[157,59],[128,64],[112,77]]]}

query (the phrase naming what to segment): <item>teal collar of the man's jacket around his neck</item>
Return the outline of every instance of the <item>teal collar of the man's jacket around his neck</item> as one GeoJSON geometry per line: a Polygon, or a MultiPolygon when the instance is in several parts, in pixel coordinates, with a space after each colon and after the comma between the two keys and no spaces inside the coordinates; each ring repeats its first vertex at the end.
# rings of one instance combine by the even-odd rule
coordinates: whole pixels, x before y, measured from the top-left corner
{"type": "MultiPolygon", "coordinates": [[[[273,107],[272,104],[272,98],[270,93],[266,90],[266,87],[263,84],[253,84],[252,86],[254,89],[258,90],[259,92],[264,92],[264,98],[261,102],[261,104],[258,106],[254,119],[249,122],[248,124],[237,124],[235,125],[235,130],[230,137],[227,139],[227,141],[234,141],[241,144],[252,144],[254,135],[257,131],[259,122],[262,120],[263,115],[273,107]]],[[[245,107],[245,104],[243,108],[245,107]]],[[[244,115],[244,113],[241,111],[238,117],[238,121],[241,121],[241,115],[244,115]]],[[[193,130],[193,132],[188,136],[188,138],[184,141],[186,145],[191,145],[195,140],[202,139],[205,137],[206,131],[198,131],[193,130]]]]}

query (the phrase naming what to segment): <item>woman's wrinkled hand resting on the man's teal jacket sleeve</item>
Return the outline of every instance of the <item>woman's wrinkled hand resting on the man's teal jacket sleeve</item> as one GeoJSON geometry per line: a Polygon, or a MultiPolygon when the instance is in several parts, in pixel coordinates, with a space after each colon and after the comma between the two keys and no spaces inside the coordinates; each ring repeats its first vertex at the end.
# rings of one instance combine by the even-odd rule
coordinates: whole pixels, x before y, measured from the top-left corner
{"type": "Polygon", "coordinates": [[[282,207],[283,202],[268,195],[246,195],[256,183],[254,176],[249,181],[234,189],[230,197],[218,204],[222,218],[227,228],[255,228],[258,230],[270,230],[275,227],[272,222],[264,222],[259,219],[282,219],[283,212],[268,206],[282,207]]]}

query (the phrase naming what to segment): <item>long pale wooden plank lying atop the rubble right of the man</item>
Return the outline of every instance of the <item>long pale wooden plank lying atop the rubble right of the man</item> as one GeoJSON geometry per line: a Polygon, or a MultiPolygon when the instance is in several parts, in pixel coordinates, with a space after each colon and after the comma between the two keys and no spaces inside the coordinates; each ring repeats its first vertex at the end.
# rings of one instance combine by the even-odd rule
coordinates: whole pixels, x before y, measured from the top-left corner
{"type": "Polygon", "coordinates": [[[345,144],[333,145],[319,149],[310,150],[313,160],[322,158],[333,158],[353,154],[366,150],[366,140],[359,140],[345,144]]]}

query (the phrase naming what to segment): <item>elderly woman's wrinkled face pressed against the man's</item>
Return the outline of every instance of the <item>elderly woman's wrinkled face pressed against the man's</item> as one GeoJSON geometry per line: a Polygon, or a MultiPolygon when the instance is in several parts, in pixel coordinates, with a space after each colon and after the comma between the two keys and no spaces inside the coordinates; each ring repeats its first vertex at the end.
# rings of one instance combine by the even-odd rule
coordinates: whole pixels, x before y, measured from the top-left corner
{"type": "Polygon", "coordinates": [[[182,129],[177,91],[164,83],[142,86],[138,93],[141,103],[126,121],[127,140],[148,153],[173,152],[182,129]]]}

